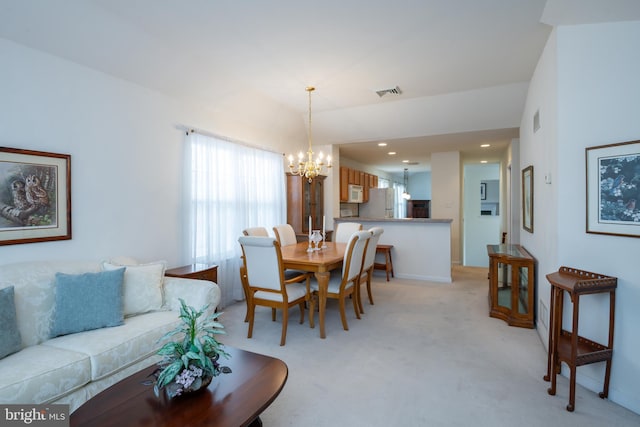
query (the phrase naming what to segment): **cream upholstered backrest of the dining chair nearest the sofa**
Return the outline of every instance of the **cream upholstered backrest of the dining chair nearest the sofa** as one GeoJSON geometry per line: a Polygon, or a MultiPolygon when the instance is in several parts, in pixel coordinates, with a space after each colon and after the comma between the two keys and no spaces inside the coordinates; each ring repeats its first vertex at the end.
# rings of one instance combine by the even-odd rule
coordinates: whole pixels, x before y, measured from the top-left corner
{"type": "Polygon", "coordinates": [[[250,288],[282,291],[284,273],[280,244],[273,237],[240,236],[243,263],[250,288]]]}

